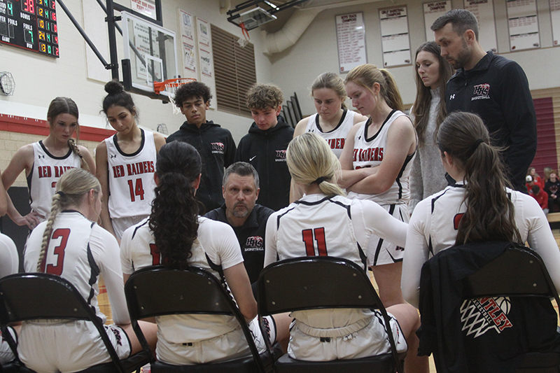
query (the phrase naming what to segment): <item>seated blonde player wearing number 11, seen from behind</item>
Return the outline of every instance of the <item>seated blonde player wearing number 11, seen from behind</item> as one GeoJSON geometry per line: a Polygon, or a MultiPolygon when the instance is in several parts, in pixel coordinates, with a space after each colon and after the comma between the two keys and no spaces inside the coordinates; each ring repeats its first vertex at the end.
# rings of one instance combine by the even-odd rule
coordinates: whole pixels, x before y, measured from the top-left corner
{"type": "MultiPolygon", "coordinates": [[[[352,260],[366,271],[366,253],[362,248],[367,247],[372,234],[404,246],[405,223],[391,217],[375,202],[344,197],[336,180],[339,162],[324,139],[310,132],[297,136],[288,145],[286,158],[293,181],[305,195],[268,219],[265,266],[276,260],[319,255],[352,260]]],[[[398,351],[406,351],[407,346],[410,350],[405,364],[407,372],[428,372],[428,360],[416,356],[418,338],[414,333],[420,325],[417,311],[409,304],[395,304],[387,311],[393,316],[389,326],[393,335],[398,336],[398,351]]],[[[295,321],[290,326],[288,353],[292,358],[315,361],[386,353],[389,344],[385,326],[376,312],[292,312],[290,316],[295,321]],[[348,338],[349,335],[352,337],[348,338]]]]}

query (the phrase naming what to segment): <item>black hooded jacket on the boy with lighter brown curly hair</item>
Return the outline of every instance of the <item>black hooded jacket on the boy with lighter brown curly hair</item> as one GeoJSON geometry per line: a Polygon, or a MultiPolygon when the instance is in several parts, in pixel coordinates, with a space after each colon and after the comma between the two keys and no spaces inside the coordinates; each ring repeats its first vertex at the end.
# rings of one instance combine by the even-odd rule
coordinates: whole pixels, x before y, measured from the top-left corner
{"type": "Polygon", "coordinates": [[[293,139],[293,128],[279,115],[278,123],[262,131],[255,122],[237,146],[235,162],[248,162],[255,167],[260,181],[258,203],[278,211],[290,204],[290,172],[286,149],[293,139]]]}

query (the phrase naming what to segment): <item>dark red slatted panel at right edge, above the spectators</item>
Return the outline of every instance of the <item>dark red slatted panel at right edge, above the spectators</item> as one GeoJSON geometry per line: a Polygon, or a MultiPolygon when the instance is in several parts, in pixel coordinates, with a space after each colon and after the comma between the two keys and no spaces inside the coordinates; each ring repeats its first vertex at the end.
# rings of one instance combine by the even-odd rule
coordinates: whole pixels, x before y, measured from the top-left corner
{"type": "Polygon", "coordinates": [[[541,177],[542,169],[552,167],[558,169],[558,157],[556,156],[556,133],[554,131],[554,107],[552,97],[533,99],[535,112],[537,113],[537,153],[533,159],[532,167],[541,177]]]}

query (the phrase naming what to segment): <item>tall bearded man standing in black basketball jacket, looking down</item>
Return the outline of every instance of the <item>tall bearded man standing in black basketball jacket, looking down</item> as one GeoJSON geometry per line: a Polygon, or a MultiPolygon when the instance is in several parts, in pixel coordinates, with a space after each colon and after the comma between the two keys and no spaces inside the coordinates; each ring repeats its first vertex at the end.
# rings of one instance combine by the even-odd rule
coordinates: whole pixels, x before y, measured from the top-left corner
{"type": "Polygon", "coordinates": [[[525,175],[537,149],[537,119],[528,80],[521,66],[478,41],[478,22],[465,9],[451,10],[433,22],[441,55],[457,69],[447,83],[447,113],[477,113],[493,145],[504,147],[504,161],[515,189],[527,192],[525,175]]]}

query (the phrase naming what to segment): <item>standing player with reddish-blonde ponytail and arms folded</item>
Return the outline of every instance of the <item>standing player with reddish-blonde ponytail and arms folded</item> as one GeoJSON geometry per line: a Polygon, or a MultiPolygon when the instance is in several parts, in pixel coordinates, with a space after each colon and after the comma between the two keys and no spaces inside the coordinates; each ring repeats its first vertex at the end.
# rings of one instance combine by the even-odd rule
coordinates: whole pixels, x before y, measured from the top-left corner
{"type": "MultiPolygon", "coordinates": [[[[388,71],[372,64],[353,68],[346,80],[352,105],[369,119],[352,127],[340,155],[340,185],[351,199],[370,199],[408,222],[409,174],[416,154],[416,132],[403,113],[398,87],[388,71]]],[[[393,241],[373,236],[368,265],[385,307],[404,303],[400,291],[402,251],[393,241]]]]}

